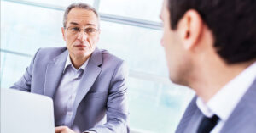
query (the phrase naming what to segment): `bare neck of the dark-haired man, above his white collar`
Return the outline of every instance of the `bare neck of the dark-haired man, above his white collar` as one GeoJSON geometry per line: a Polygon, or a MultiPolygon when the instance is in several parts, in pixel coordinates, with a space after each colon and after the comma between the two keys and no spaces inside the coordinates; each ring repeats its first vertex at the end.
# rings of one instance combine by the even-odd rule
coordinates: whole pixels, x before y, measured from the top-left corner
{"type": "Polygon", "coordinates": [[[189,86],[195,90],[198,97],[207,103],[223,86],[234,79],[252,62],[241,64],[204,64],[191,78],[189,86]]]}

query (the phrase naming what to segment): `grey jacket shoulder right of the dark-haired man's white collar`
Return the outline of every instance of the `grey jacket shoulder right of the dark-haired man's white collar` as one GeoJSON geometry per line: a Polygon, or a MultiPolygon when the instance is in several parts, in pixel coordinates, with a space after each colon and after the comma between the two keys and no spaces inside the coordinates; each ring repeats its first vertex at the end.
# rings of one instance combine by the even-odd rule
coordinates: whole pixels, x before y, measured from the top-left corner
{"type": "Polygon", "coordinates": [[[256,80],[250,86],[235,110],[230,114],[221,132],[252,132],[256,130],[256,80]],[[247,130],[247,131],[246,131],[247,130]]]}

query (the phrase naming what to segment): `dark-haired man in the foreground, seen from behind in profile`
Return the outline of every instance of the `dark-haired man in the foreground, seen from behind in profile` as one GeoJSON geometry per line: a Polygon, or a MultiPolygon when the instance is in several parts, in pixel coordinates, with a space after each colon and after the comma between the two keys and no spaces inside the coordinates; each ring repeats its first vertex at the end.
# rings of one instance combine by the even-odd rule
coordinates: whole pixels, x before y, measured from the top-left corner
{"type": "Polygon", "coordinates": [[[177,133],[256,132],[256,1],[165,0],[170,79],[196,96],[177,133]]]}

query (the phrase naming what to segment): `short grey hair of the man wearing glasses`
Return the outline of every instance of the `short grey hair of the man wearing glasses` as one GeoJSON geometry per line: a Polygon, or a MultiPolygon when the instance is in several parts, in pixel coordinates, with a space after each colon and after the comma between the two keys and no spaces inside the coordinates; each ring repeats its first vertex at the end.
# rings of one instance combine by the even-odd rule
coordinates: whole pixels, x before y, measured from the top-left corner
{"type": "MultiPolygon", "coordinates": [[[[66,10],[65,10],[65,13],[64,13],[64,17],[63,17],[63,27],[66,28],[66,24],[67,24],[67,14],[71,11],[71,9],[73,8],[83,8],[83,9],[86,9],[86,10],[90,10],[92,11],[94,14],[96,14],[96,17],[98,19],[98,23],[100,23],[100,16],[99,14],[97,13],[96,9],[91,7],[89,4],[86,4],[86,3],[72,3],[71,5],[69,5],[66,10]]],[[[100,24],[98,24],[100,28],[100,24]]]]}

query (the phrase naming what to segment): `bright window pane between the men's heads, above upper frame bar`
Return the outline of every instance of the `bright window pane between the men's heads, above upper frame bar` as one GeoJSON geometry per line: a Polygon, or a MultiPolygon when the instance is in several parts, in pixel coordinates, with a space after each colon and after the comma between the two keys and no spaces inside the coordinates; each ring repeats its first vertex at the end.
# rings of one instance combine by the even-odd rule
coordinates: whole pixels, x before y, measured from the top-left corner
{"type": "Polygon", "coordinates": [[[160,22],[163,0],[102,0],[99,11],[135,19],[160,22]]]}

